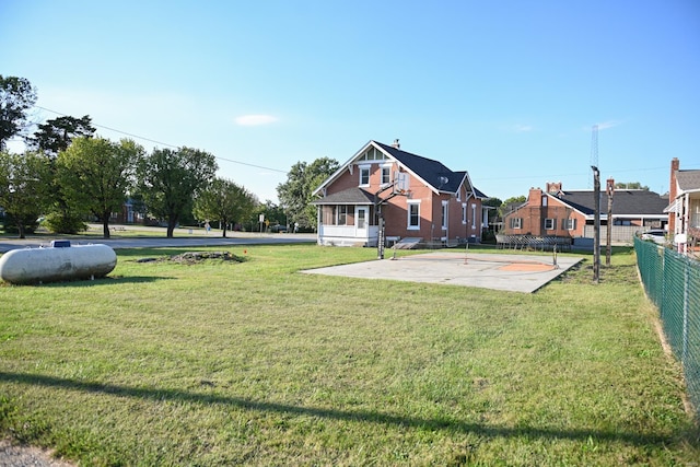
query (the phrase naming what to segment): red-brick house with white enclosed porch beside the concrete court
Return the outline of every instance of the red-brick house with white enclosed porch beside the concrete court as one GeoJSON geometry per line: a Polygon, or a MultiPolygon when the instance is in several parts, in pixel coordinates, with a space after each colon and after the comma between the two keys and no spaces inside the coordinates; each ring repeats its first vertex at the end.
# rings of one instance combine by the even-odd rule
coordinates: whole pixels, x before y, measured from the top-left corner
{"type": "Polygon", "coordinates": [[[486,196],[467,172],[401,151],[398,140],[368,142],[314,196],[320,245],[377,246],[382,234],[393,241],[478,242],[488,223],[486,196]]]}

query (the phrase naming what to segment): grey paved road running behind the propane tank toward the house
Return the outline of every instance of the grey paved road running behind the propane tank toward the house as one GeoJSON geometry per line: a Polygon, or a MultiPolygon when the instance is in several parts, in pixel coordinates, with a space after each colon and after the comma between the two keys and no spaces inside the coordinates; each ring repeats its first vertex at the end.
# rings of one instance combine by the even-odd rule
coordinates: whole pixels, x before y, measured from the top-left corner
{"type": "MultiPolygon", "coordinates": [[[[229,246],[229,245],[270,245],[270,244],[290,244],[290,243],[314,243],[316,234],[260,234],[249,232],[228,232],[226,238],[221,237],[221,231],[212,230],[208,234],[201,230],[177,229],[173,238],[165,236],[165,229],[160,227],[133,227],[128,226],[126,231],[118,231],[117,235],[109,240],[98,236],[85,236],[69,240],[73,245],[101,243],[112,248],[161,248],[161,247],[200,247],[200,246],[229,246]],[[145,230],[156,231],[162,236],[138,236],[143,234],[145,230]],[[130,236],[133,234],[133,236],[130,236]]],[[[95,231],[95,226],[91,225],[91,232],[95,231]]],[[[98,232],[102,232],[100,227],[98,232]]],[[[25,240],[3,237],[0,238],[0,253],[5,253],[16,248],[38,248],[39,246],[49,246],[52,240],[67,238],[61,235],[57,236],[30,236],[25,240]]]]}

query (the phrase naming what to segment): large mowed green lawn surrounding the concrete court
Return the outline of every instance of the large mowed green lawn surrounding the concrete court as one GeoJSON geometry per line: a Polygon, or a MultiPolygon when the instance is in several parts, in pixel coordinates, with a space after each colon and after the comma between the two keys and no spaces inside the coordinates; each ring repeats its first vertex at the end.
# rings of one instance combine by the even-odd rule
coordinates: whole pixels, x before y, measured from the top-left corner
{"type": "Polygon", "coordinates": [[[299,272],[362,248],[136,261],[184,250],[0,287],[0,435],[90,466],[698,465],[631,249],[535,294],[299,272]]]}

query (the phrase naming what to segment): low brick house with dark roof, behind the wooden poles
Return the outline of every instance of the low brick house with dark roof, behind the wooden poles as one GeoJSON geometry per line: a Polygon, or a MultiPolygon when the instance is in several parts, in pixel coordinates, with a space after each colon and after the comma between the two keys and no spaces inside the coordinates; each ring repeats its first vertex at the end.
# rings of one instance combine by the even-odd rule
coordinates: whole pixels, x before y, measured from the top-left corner
{"type": "MultiPolygon", "coordinates": [[[[614,180],[609,180],[614,185],[614,180]]],[[[612,192],[612,240],[630,241],[641,229],[663,229],[668,220],[668,201],[642,189],[615,189],[612,192]]],[[[607,225],[608,195],[600,191],[600,225],[607,225]]],[[[593,237],[595,197],[593,190],[562,189],[561,183],[548,183],[547,189],[530,188],[527,201],[503,218],[506,235],[593,237]]],[[[600,232],[606,235],[605,230],[600,232]]]]}

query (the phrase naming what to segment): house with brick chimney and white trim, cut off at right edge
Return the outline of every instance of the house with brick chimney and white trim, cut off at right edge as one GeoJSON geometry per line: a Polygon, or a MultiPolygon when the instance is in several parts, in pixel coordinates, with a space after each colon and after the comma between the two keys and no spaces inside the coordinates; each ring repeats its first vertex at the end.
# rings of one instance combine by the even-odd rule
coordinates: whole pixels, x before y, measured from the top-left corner
{"type": "Polygon", "coordinates": [[[670,161],[668,232],[681,240],[678,248],[686,253],[688,244],[700,238],[700,171],[681,171],[677,157],[670,161]],[[679,236],[680,235],[680,236],[679,236]]]}

